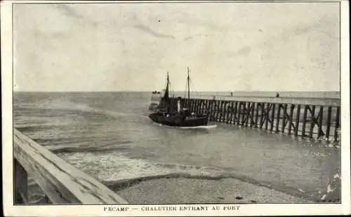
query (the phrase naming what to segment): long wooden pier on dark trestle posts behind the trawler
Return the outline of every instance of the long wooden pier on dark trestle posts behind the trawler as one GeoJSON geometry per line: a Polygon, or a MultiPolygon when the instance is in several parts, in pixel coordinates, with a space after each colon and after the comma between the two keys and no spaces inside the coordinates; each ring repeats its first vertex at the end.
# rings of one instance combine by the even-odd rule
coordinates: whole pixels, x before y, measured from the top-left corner
{"type": "MultiPolygon", "coordinates": [[[[178,98],[171,98],[176,112],[178,98]]],[[[340,100],[307,98],[181,98],[191,112],[208,112],[209,121],[304,138],[340,140],[340,100]]]]}

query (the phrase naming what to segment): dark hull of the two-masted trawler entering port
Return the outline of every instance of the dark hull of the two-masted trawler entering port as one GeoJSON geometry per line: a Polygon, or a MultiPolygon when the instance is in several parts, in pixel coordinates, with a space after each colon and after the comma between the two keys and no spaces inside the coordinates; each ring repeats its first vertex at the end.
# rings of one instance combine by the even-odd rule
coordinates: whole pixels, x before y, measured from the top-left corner
{"type": "Polygon", "coordinates": [[[206,126],[208,123],[208,114],[198,114],[193,117],[183,117],[177,114],[152,113],[149,115],[152,121],[167,126],[206,126]]]}

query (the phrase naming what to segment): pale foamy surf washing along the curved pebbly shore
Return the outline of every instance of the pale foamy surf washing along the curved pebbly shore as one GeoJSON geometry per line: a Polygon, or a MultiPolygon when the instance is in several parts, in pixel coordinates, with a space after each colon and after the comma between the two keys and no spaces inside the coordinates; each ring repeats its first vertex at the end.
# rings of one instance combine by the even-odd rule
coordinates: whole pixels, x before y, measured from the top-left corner
{"type": "Polygon", "coordinates": [[[316,202],[320,199],[317,192],[311,192],[300,186],[294,188],[284,185],[282,182],[258,180],[251,177],[250,174],[241,173],[234,169],[216,166],[150,162],[150,159],[140,159],[140,155],[138,155],[138,158],[127,157],[128,153],[122,153],[123,149],[127,148],[126,146],[113,147],[109,145],[98,150],[92,149],[92,147],[74,147],[70,149],[68,147],[61,147],[56,152],[65,152],[59,154],[59,156],[70,164],[101,180],[102,183],[105,183],[112,190],[121,190],[145,180],[159,178],[194,178],[204,180],[234,178],[253,185],[284,192],[295,197],[312,199],[316,202]],[[80,149],[79,152],[69,153],[69,151],[77,151],[76,148],[80,149]],[[82,150],[86,150],[86,153],[82,153],[82,150]],[[104,150],[105,153],[95,154],[91,150],[93,152],[102,152],[104,150]]]}

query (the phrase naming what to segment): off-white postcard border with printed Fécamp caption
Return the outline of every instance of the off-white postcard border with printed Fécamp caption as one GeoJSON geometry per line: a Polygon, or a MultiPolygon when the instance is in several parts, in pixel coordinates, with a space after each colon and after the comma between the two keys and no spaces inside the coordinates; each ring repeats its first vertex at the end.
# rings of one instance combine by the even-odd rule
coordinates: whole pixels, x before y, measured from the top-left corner
{"type": "MultiPolygon", "coordinates": [[[[341,0],[341,166],[342,166],[342,204],[234,204],[239,210],[223,211],[230,204],[208,204],[209,211],[104,211],[108,205],[42,205],[13,206],[13,150],[12,150],[12,3],[27,1],[1,1],[1,96],[2,96],[2,148],[4,177],[5,216],[284,216],[284,215],[345,215],[350,214],[350,35],[348,1],[341,0]],[[212,211],[212,206],[220,206],[221,211],[212,211]]],[[[44,3],[48,1],[28,1],[44,3]]],[[[55,1],[50,1],[55,2],[55,1]]],[[[74,1],[58,1],[72,3],[74,1]]],[[[79,3],[91,1],[79,1],[79,3]]],[[[104,1],[98,1],[100,3],[104,1]]],[[[108,1],[111,2],[111,1],[108,1]]],[[[255,1],[251,1],[255,2],[255,1]]],[[[113,205],[114,207],[119,207],[113,205]]],[[[147,205],[121,205],[141,208],[147,205]]],[[[148,205],[155,206],[155,205],[148,205]]],[[[157,205],[179,207],[181,204],[157,205]]],[[[189,204],[187,204],[189,206],[189,204]]],[[[206,206],[195,204],[194,206],[206,206]]],[[[112,206],[111,206],[112,207],[112,206]]]]}

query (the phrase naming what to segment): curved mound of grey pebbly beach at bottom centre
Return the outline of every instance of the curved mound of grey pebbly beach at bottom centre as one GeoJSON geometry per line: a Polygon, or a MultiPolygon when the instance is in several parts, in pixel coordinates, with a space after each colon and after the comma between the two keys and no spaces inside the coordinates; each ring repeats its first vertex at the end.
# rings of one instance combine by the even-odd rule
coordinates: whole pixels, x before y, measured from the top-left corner
{"type": "Polygon", "coordinates": [[[116,192],[130,203],[146,204],[314,202],[234,178],[159,178],[144,180],[116,192]]]}

